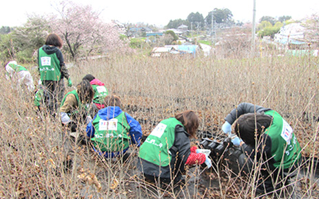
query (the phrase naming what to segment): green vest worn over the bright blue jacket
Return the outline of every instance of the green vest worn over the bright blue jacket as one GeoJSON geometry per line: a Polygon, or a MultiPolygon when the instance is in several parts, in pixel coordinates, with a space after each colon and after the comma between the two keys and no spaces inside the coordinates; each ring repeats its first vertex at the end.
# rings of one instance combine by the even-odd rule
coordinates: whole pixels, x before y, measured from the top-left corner
{"type": "Polygon", "coordinates": [[[104,120],[99,113],[92,121],[95,133],[91,141],[97,150],[102,152],[121,152],[130,146],[130,125],[125,112],[117,117],[104,120]]]}

